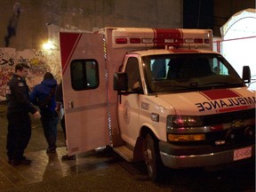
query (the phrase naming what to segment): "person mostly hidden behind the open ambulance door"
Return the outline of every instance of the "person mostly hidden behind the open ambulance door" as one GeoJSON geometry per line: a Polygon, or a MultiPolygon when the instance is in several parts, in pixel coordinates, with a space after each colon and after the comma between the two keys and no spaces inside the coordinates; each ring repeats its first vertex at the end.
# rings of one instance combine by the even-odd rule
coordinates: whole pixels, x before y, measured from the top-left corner
{"type": "MultiPolygon", "coordinates": [[[[56,103],[57,103],[57,107],[55,108],[55,110],[59,113],[60,109],[64,108],[62,82],[60,82],[60,84],[58,85],[57,90],[55,92],[55,100],[56,100],[56,103]]],[[[65,138],[65,141],[66,141],[67,140],[67,134],[66,134],[65,114],[63,114],[63,116],[60,120],[60,125],[61,125],[62,131],[64,133],[64,138],[65,138]]],[[[76,156],[75,155],[74,156],[65,155],[65,156],[62,156],[61,159],[64,160],[64,161],[65,160],[76,160],[76,156]]]]}

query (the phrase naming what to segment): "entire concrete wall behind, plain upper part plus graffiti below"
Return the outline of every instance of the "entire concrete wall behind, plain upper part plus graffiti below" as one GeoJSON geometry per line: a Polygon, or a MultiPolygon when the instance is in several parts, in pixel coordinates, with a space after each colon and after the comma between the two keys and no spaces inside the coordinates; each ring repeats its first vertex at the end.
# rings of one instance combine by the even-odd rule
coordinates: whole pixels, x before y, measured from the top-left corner
{"type": "Polygon", "coordinates": [[[0,100],[14,65],[30,67],[28,86],[46,71],[60,80],[59,31],[93,31],[104,27],[182,28],[183,0],[1,0],[0,100]],[[42,45],[48,40],[56,50],[42,45]]]}

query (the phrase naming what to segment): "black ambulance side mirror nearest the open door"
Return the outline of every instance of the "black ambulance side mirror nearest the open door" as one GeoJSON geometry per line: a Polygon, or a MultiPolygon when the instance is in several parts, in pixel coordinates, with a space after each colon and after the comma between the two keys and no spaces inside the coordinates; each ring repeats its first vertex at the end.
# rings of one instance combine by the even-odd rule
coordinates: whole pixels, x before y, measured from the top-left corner
{"type": "Polygon", "coordinates": [[[126,73],[114,74],[113,89],[118,92],[128,90],[128,78],[126,73]]]}

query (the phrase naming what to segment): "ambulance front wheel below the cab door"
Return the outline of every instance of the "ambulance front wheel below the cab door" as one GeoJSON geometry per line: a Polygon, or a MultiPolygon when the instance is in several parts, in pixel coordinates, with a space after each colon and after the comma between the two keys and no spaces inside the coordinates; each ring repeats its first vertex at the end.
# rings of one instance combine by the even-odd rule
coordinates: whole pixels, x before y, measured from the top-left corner
{"type": "Polygon", "coordinates": [[[150,133],[148,133],[145,138],[143,153],[150,179],[153,181],[160,180],[162,161],[160,158],[157,141],[150,133]]]}

